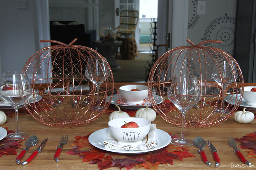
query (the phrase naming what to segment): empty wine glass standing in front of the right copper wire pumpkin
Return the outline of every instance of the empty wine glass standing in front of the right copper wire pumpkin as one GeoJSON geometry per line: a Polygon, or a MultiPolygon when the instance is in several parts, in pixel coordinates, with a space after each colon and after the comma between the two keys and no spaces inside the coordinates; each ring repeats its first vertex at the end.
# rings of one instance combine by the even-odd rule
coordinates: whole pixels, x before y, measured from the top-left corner
{"type": "Polygon", "coordinates": [[[184,125],[186,112],[201,99],[197,77],[189,74],[176,75],[167,97],[182,114],[181,137],[172,139],[171,143],[178,146],[193,145],[193,140],[184,138],[184,125]]]}

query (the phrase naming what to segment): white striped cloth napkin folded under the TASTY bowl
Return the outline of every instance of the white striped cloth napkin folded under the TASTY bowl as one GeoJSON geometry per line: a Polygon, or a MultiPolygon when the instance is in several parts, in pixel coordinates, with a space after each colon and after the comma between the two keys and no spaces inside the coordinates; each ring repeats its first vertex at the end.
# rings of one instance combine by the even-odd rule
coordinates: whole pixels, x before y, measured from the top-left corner
{"type": "Polygon", "coordinates": [[[108,136],[106,141],[103,142],[105,144],[105,149],[113,149],[113,150],[147,150],[150,148],[156,147],[156,124],[151,124],[150,130],[148,132],[148,140],[147,136],[142,139],[141,145],[138,146],[130,146],[130,145],[119,145],[118,141],[112,136],[110,131],[108,132],[108,136]]]}

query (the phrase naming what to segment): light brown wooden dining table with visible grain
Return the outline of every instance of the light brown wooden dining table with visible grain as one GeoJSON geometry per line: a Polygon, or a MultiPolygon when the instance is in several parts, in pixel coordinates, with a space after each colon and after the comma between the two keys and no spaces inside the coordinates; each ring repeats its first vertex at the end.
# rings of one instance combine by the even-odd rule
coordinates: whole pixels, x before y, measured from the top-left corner
{"type": "MultiPolygon", "coordinates": [[[[125,85],[127,83],[114,83],[115,89],[119,89],[120,86],[125,85]]],[[[128,83],[129,84],[129,83],[128,83]]],[[[145,83],[133,83],[133,84],[145,84],[145,83]]],[[[245,84],[255,85],[255,84],[245,84]]],[[[112,106],[113,107],[113,106],[112,106]]],[[[28,156],[39,146],[39,144],[46,138],[48,138],[45,147],[42,149],[41,153],[39,153],[33,161],[29,164],[22,166],[17,165],[15,162],[17,155],[3,155],[0,157],[0,167],[5,170],[13,170],[13,169],[27,169],[27,170],[35,170],[35,169],[99,169],[97,164],[89,164],[89,162],[83,162],[78,155],[67,154],[70,150],[73,150],[71,144],[76,141],[75,136],[86,136],[90,133],[93,133],[97,130],[107,128],[108,127],[108,114],[102,114],[97,120],[94,122],[83,125],[83,126],[73,126],[70,128],[69,126],[65,127],[53,127],[42,124],[35,120],[30,114],[21,114],[18,117],[19,122],[19,131],[26,132],[32,135],[36,135],[38,137],[38,144],[36,146],[30,147],[26,155],[23,157],[21,161],[25,161],[28,156]],[[59,145],[61,135],[68,135],[68,142],[63,146],[62,152],[59,157],[59,162],[55,162],[54,154],[56,151],[56,147],[59,145]]],[[[156,116],[155,121],[157,129],[161,129],[169,134],[180,136],[181,127],[173,125],[165,121],[160,115],[156,116]]],[[[8,130],[15,131],[15,118],[7,117],[7,121],[5,124],[0,125],[0,127],[8,127],[8,130]]],[[[197,136],[201,136],[206,141],[210,140],[211,143],[215,146],[218,151],[218,155],[220,158],[220,165],[217,169],[228,169],[228,168],[238,168],[234,167],[237,165],[242,165],[242,162],[239,160],[237,155],[233,152],[233,148],[228,145],[228,137],[234,138],[242,138],[246,134],[254,133],[256,131],[256,120],[254,120],[250,124],[240,124],[234,121],[233,116],[231,116],[225,122],[220,124],[205,127],[205,128],[186,128],[185,127],[185,137],[194,139],[197,136]]],[[[25,148],[25,140],[20,143],[22,146],[20,148],[25,148]]],[[[169,144],[172,145],[172,144],[169,144]]],[[[238,147],[239,142],[237,142],[238,147]]],[[[1,147],[1,146],[0,146],[1,147]]],[[[20,153],[21,149],[16,149],[17,154],[20,153]]],[[[201,157],[198,153],[198,148],[195,146],[189,146],[188,152],[193,154],[195,157],[184,158],[183,161],[178,159],[174,159],[173,165],[170,164],[159,164],[158,169],[210,169],[216,168],[214,167],[215,161],[212,156],[212,153],[208,146],[204,148],[204,151],[207,155],[208,160],[212,163],[211,167],[204,164],[201,160],[201,157]]],[[[246,157],[248,161],[251,162],[251,169],[255,168],[256,158],[247,158],[247,152],[240,149],[241,153],[246,157]]],[[[249,168],[249,167],[248,167],[249,168]]],[[[110,167],[108,169],[119,169],[118,167],[110,167]]],[[[125,167],[123,168],[125,169],[125,167]]],[[[135,166],[132,168],[135,169],[135,166]]],[[[140,169],[144,169],[143,167],[140,169]]]]}

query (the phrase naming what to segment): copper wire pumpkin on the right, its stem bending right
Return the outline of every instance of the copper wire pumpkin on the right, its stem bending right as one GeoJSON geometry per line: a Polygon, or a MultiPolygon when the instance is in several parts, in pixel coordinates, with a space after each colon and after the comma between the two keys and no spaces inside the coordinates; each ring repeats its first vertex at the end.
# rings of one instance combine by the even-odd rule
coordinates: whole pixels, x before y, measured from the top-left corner
{"type": "MultiPolygon", "coordinates": [[[[225,51],[208,46],[204,43],[222,43],[222,41],[207,40],[195,45],[187,40],[192,46],[180,46],[163,54],[154,64],[148,78],[148,95],[153,108],[167,122],[181,126],[182,115],[177,108],[168,102],[167,92],[174,75],[191,74],[198,77],[201,90],[201,101],[191,108],[185,115],[185,127],[208,127],[227,120],[239,107],[243,96],[243,76],[237,62],[225,51]],[[237,74],[234,80],[225,90],[224,95],[221,83],[215,82],[211,73],[214,66],[218,66],[219,60],[225,58],[230,64],[235,63],[232,74],[237,74]],[[237,69],[237,72],[236,70],[237,69]],[[223,100],[224,96],[224,100],[223,100]],[[162,104],[157,104],[164,101],[162,104]],[[222,103],[224,105],[222,105],[222,103]],[[234,104],[234,105],[233,105],[234,104]],[[216,108],[224,106],[229,114],[216,112],[216,108]]],[[[220,69],[220,72],[223,70],[220,69]]]]}

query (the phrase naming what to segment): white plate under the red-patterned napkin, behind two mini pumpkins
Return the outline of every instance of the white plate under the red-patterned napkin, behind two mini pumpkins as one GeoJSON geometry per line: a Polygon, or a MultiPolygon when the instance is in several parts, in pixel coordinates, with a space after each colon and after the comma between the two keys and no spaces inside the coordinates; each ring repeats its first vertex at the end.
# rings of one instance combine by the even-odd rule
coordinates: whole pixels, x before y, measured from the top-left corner
{"type": "MultiPolygon", "coordinates": [[[[120,106],[121,108],[124,108],[124,109],[140,109],[140,108],[145,108],[146,105],[128,105],[128,104],[118,104],[116,103],[116,98],[117,98],[117,94],[113,95],[112,97],[112,100],[111,100],[111,104],[114,104],[114,105],[118,105],[120,106]]],[[[156,100],[156,104],[160,104],[163,102],[163,100],[161,100],[161,97],[160,96],[155,96],[155,100],[156,100]]],[[[110,101],[110,96],[107,97],[107,101],[110,101]]],[[[148,104],[148,107],[152,106],[152,104],[148,104]]]]}

